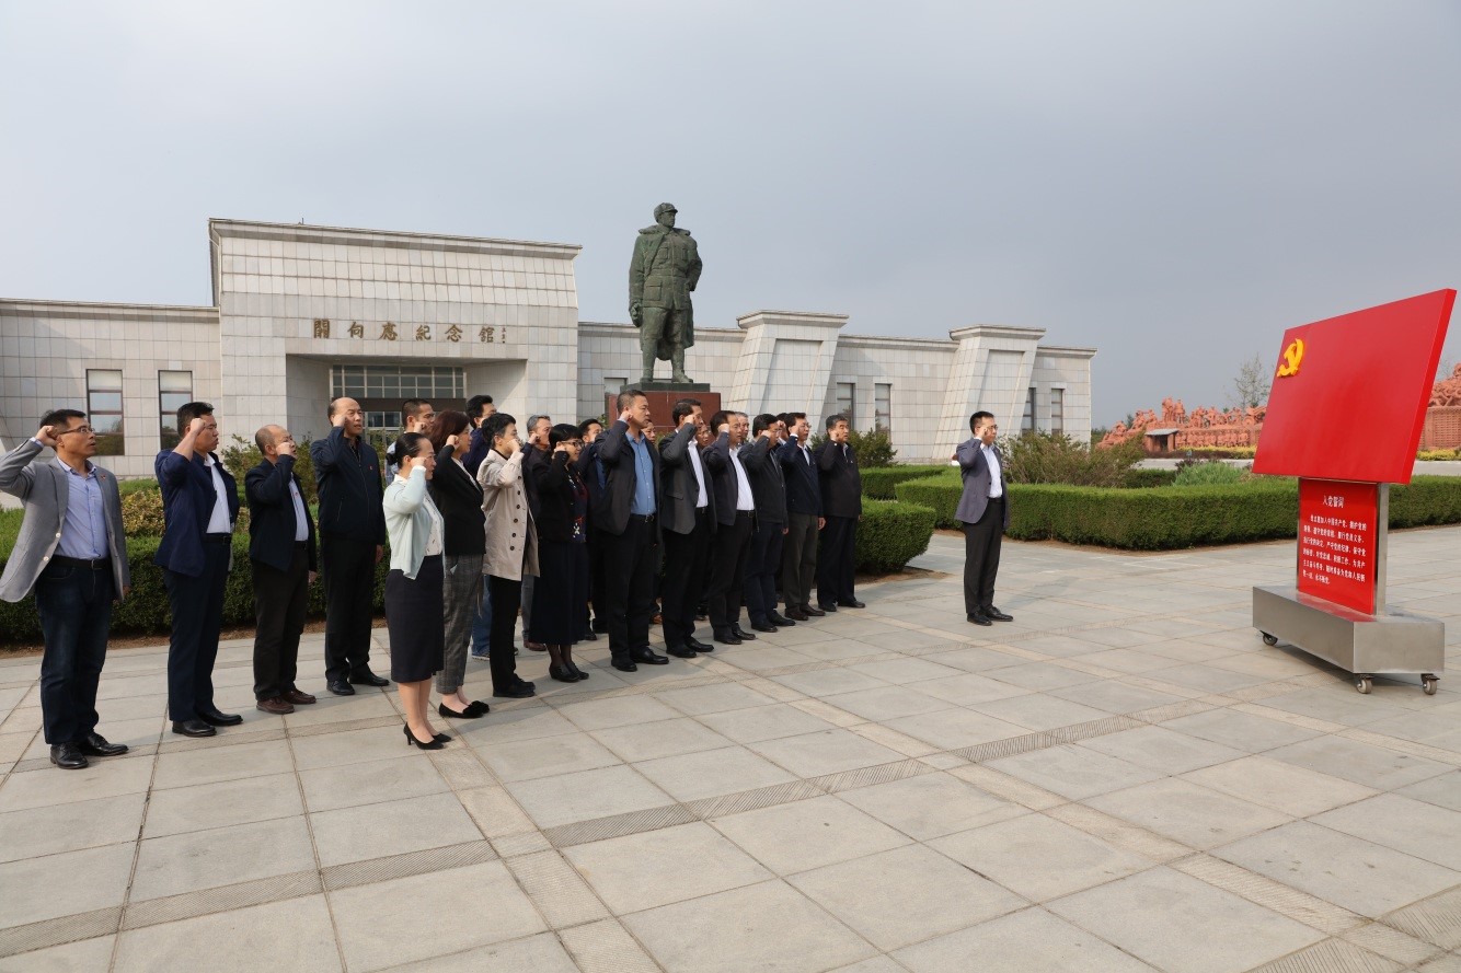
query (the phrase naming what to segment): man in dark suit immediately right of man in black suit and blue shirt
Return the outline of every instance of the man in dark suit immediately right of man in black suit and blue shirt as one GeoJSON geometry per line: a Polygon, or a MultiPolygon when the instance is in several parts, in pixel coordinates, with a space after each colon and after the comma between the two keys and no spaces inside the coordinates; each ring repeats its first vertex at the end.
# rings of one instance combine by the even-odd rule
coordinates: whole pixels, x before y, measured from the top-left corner
{"type": "Polygon", "coordinates": [[[695,399],[681,399],[671,413],[674,435],[659,447],[660,532],[665,538],[665,587],[660,592],[660,617],[665,622],[665,650],[681,659],[714,646],[695,638],[695,603],[706,584],[706,558],[714,533],[714,494],[710,475],[700,459],[695,432],[706,424],[695,399]]]}

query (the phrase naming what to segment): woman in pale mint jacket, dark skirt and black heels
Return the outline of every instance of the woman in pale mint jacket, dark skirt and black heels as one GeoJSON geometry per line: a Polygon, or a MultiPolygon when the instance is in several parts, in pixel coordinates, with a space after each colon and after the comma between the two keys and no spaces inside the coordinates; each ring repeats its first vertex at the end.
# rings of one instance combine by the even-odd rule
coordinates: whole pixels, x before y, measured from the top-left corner
{"type": "Polygon", "coordinates": [[[390,678],[406,713],[406,742],[421,749],[441,749],[451,739],[431,729],[427,701],[431,676],[441,671],[446,641],[441,619],[441,552],[446,533],[427,481],[435,472],[431,440],[403,432],[396,440],[400,469],[386,487],[381,507],[390,536],[390,574],[386,576],[386,628],[390,631],[390,678]]]}

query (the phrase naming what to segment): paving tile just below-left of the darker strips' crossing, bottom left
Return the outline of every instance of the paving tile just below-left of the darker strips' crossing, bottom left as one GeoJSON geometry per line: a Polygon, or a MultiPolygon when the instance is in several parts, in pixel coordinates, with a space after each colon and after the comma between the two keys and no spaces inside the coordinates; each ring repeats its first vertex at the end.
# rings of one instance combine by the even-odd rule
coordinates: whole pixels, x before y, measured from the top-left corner
{"type": "Polygon", "coordinates": [[[330,909],[352,973],[457,954],[546,929],[503,862],[345,888],[330,893],[330,909]],[[459,891],[447,900],[446,890],[466,890],[466,894],[459,891]],[[421,903],[434,907],[421,909],[421,903]]]}

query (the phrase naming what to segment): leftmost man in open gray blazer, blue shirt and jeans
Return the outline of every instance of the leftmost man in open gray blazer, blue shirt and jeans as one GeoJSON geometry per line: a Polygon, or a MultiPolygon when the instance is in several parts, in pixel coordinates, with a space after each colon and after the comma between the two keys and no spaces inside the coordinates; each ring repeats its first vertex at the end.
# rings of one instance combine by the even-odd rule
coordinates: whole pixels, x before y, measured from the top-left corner
{"type": "Polygon", "coordinates": [[[32,590],[41,615],[41,723],[51,763],[80,770],[86,757],[127,752],[96,732],[96,684],[107,660],[111,603],[131,592],[117,478],[89,460],[96,434],[86,413],[57,409],[0,460],[0,489],[25,501],[0,598],[32,590]],[[56,459],[35,463],[41,450],[56,459]]]}

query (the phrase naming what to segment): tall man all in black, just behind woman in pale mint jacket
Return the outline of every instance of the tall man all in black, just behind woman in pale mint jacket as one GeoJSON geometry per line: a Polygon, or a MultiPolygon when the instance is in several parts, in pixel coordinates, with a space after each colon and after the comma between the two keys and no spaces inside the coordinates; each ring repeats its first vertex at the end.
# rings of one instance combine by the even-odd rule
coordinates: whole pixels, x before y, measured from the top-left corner
{"type": "Polygon", "coordinates": [[[330,434],[310,444],[320,488],[320,554],[324,564],[324,678],[335,695],[355,685],[390,685],[370,671],[375,617],[375,565],[386,548],[380,456],[365,441],[355,399],[330,399],[330,434]]]}

